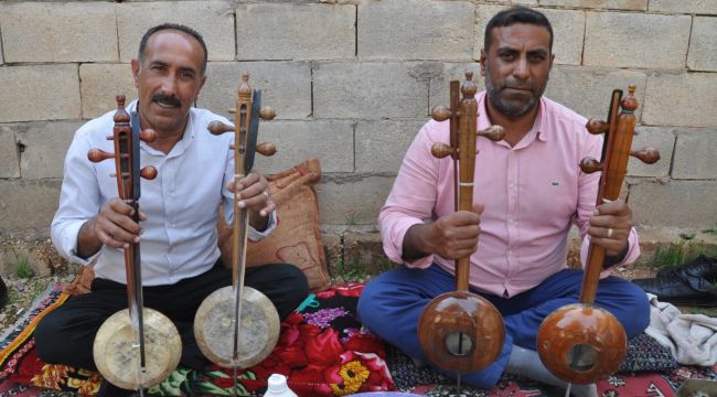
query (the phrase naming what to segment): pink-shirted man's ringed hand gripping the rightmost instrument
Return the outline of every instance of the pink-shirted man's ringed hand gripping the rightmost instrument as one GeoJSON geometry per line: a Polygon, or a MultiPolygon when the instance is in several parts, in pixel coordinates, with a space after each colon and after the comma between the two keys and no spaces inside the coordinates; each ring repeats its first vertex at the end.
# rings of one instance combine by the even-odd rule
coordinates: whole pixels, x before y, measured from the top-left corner
{"type": "Polygon", "coordinates": [[[628,249],[632,229],[632,211],[624,202],[616,200],[595,208],[588,234],[592,243],[606,249],[606,255],[617,257],[628,249]]]}

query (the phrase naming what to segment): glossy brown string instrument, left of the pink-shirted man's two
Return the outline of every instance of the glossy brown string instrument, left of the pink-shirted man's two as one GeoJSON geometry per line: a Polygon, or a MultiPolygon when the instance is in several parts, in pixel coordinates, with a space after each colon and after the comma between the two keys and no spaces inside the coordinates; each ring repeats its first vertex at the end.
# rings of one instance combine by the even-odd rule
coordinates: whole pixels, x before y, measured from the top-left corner
{"type": "MultiPolygon", "coordinates": [[[[450,120],[450,146],[436,143],[434,157],[453,159],[456,210],[472,211],[475,140],[503,139],[502,127],[477,131],[478,103],[473,73],[465,73],[462,85],[450,83],[450,108],[436,107],[431,117],[450,120]],[[463,98],[459,100],[459,85],[463,98]],[[458,170],[458,171],[457,171],[458,170]],[[457,173],[460,175],[457,178],[457,173]]],[[[483,297],[469,291],[470,256],[456,260],[456,291],[434,298],[420,314],[418,340],[435,365],[460,374],[490,365],[503,348],[505,329],[501,313],[483,297]]]]}

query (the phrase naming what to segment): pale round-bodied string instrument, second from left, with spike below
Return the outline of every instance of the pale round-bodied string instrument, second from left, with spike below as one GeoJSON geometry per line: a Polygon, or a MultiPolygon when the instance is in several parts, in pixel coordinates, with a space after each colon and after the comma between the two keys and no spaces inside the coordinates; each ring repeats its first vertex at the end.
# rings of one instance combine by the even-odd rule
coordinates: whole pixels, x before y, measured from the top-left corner
{"type": "MultiPolygon", "coordinates": [[[[259,118],[270,120],[276,111],[261,107],[261,92],[253,90],[249,75],[242,76],[236,100],[235,126],[213,121],[207,129],[213,135],[234,132],[234,179],[239,181],[254,165],[255,152],[272,155],[271,143],[257,144],[259,118]]],[[[238,207],[239,197],[234,195],[236,214],[233,223],[232,286],[210,294],[200,305],[194,318],[194,335],[204,355],[223,367],[247,368],[258,364],[274,350],[279,339],[279,314],[271,301],[254,288],[244,286],[248,214],[238,207]]],[[[236,387],[234,388],[236,391],[236,387]]]]}

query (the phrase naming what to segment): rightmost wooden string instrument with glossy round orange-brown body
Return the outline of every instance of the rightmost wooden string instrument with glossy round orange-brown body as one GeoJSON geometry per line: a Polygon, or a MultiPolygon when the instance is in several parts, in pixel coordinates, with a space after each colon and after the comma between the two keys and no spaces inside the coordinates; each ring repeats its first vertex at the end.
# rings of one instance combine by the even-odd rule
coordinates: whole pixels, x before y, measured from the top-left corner
{"type": "MultiPolygon", "coordinates": [[[[590,133],[606,133],[602,161],[586,158],[580,162],[584,172],[602,171],[598,205],[619,198],[630,155],[649,164],[660,160],[660,153],[653,148],[630,149],[638,108],[634,90],[635,86],[630,85],[629,94],[622,98],[622,90],[616,89],[608,121],[590,119],[587,125],[590,133]]],[[[618,371],[625,355],[622,324],[609,311],[593,305],[604,258],[604,248],[590,244],[580,301],[550,313],[537,333],[537,352],[543,364],[568,383],[590,384],[606,378],[618,371]]]]}

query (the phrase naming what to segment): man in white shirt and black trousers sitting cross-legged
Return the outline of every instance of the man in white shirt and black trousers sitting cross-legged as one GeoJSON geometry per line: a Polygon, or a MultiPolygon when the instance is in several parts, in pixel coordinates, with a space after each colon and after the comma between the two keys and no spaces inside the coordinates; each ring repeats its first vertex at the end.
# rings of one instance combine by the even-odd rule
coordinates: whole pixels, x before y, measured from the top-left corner
{"type": "MultiPolygon", "coordinates": [[[[65,159],[60,207],[52,239],[69,261],[96,260],[92,292],[73,297],[49,313],[35,330],[38,356],[47,363],[96,368],[93,341],[103,322],[127,308],[122,248],[141,240],[143,301],[176,325],[182,337],[181,364],[203,368],[193,335],[194,314],[204,298],[232,283],[220,262],[216,222],[224,202],[233,216],[233,196],[249,216],[248,237],[257,240],[276,226],[275,204],[267,180],[250,172],[234,183],[229,133],[213,136],[211,121],[222,116],[193,108],[206,81],[207,53],[194,30],[162,24],[142,37],[131,68],[139,99],[127,111],[139,128],[152,128],[158,138],[140,144],[140,164],[153,165],[156,180],[141,182],[140,223],[132,207],[117,195],[115,163],[90,163],[87,151],[111,150],[114,111],[84,125],[65,159]]],[[[276,264],[247,269],[245,285],[266,294],[279,316],[288,315],[308,294],[300,269],[276,264]]]]}

